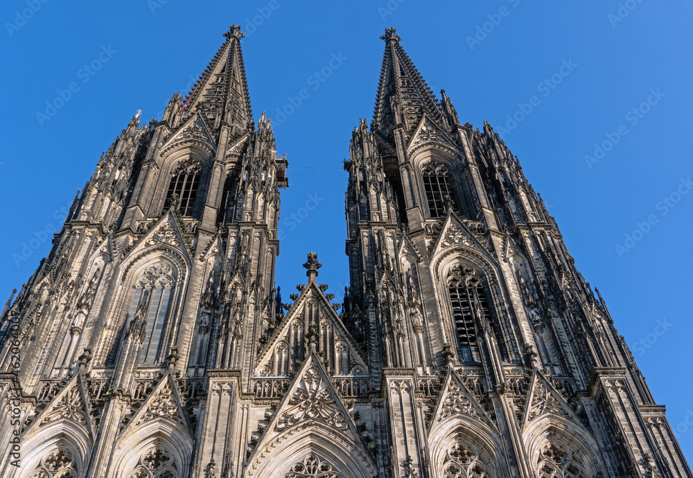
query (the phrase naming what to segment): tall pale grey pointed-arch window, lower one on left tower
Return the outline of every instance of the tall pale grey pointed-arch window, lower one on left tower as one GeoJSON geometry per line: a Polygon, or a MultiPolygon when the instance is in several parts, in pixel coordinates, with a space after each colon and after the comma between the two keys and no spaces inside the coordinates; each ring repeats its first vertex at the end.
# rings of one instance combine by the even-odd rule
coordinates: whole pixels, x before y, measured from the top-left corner
{"type": "Polygon", "coordinates": [[[135,286],[132,302],[130,302],[130,317],[134,317],[138,309],[146,311],[147,314],[140,364],[155,365],[157,363],[164,330],[166,330],[170,299],[173,295],[174,280],[170,272],[171,268],[168,264],[157,264],[148,268],[135,286]]]}

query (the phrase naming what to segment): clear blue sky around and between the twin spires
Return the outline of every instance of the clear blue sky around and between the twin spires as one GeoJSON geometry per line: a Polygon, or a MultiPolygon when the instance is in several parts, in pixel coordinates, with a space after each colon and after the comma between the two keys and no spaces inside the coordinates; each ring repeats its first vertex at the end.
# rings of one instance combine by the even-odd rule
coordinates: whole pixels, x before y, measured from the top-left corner
{"type": "Polygon", "coordinates": [[[463,122],[505,128],[693,456],[692,12],[672,0],[3,2],[0,292],[21,287],[48,253],[44,231],[60,227],[132,115],[160,119],[236,23],[252,32],[243,52],[254,116],[274,119],[290,162],[277,284],[286,296],[295,291],[315,250],[321,282],[340,298],[348,280],[342,160],[358,119],[372,117],[379,37],[394,26],[463,122]],[[333,56],[338,68],[311,78],[333,56]],[[61,108],[46,111],[71,83],[61,108]],[[304,88],[308,98],[278,121],[304,88]],[[317,207],[291,223],[307,201],[317,207]]]}

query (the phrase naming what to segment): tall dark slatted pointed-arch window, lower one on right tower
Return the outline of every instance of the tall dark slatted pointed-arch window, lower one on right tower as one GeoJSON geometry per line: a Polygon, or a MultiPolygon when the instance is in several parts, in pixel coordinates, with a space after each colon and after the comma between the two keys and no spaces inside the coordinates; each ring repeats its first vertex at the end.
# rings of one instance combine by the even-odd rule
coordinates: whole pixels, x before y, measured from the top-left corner
{"type": "Polygon", "coordinates": [[[486,300],[484,285],[473,275],[470,268],[456,266],[448,279],[450,305],[453,309],[453,321],[457,332],[460,359],[462,361],[479,361],[477,343],[477,322],[475,318],[483,316],[491,322],[491,309],[486,300]]]}

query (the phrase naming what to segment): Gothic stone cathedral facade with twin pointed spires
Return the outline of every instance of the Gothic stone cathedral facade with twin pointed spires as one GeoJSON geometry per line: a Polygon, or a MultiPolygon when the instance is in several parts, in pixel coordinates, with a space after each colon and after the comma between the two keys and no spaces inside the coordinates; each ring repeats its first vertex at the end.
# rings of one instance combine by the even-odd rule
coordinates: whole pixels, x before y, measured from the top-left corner
{"type": "Polygon", "coordinates": [[[349,287],[309,253],[279,291],[288,162],[224,36],[3,308],[1,477],[693,477],[517,158],[394,28],[344,162],[349,287]]]}

